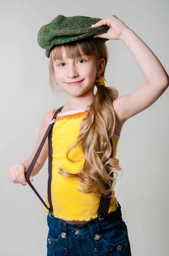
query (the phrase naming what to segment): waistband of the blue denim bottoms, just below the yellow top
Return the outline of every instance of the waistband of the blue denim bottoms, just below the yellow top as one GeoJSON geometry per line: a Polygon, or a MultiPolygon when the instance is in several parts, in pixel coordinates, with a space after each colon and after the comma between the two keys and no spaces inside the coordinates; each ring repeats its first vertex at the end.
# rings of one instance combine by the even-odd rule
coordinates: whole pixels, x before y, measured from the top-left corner
{"type": "MultiPolygon", "coordinates": [[[[118,203],[118,202],[117,202],[118,203]]],[[[76,229],[83,230],[83,236],[85,231],[88,232],[90,228],[90,232],[93,234],[100,233],[100,229],[108,226],[113,221],[117,220],[118,218],[121,218],[121,206],[118,203],[118,206],[115,211],[110,212],[107,216],[104,217],[104,219],[94,219],[93,221],[90,221],[88,223],[79,225],[79,224],[70,224],[65,221],[62,221],[59,218],[54,217],[52,214],[51,217],[48,215],[48,221],[51,221],[54,227],[58,228],[61,232],[65,233],[73,233],[74,236],[76,236],[76,232],[74,232],[76,229]]]]}

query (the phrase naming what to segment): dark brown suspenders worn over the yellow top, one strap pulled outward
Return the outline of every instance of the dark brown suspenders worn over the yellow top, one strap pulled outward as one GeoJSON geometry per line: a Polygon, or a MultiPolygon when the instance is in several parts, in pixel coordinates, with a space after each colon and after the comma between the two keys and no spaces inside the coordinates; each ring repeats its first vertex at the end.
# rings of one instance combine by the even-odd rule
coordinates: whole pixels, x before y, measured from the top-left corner
{"type": "MultiPolygon", "coordinates": [[[[51,214],[53,214],[53,206],[52,206],[52,200],[51,200],[51,180],[52,180],[52,130],[53,130],[53,126],[54,126],[54,121],[56,119],[57,114],[62,110],[64,106],[58,108],[56,110],[56,112],[54,113],[54,116],[50,122],[50,125],[42,139],[42,142],[39,145],[39,148],[36,152],[36,154],[34,155],[34,158],[30,164],[30,166],[28,167],[27,172],[25,173],[25,178],[27,183],[29,184],[29,186],[31,187],[31,189],[34,190],[35,194],[38,196],[38,198],[40,199],[40,201],[42,202],[42,204],[44,204],[44,206],[48,209],[49,212],[51,212],[51,214]],[[47,204],[45,204],[45,202],[43,201],[43,199],[41,198],[41,196],[39,195],[39,193],[37,192],[37,190],[34,188],[34,186],[32,185],[31,181],[29,180],[29,177],[31,175],[31,172],[34,168],[34,165],[39,157],[39,154],[43,148],[43,145],[45,144],[45,141],[48,137],[48,202],[49,202],[49,207],[47,206],[47,204]]],[[[113,157],[113,140],[112,138],[110,139],[110,143],[112,145],[112,153],[111,153],[111,157],[113,157]]],[[[105,186],[107,186],[107,184],[105,184],[105,186]]],[[[108,196],[111,195],[111,192],[104,196],[101,195],[101,200],[100,200],[100,204],[99,204],[99,209],[97,214],[99,215],[99,217],[103,217],[107,216],[108,211],[109,211],[109,207],[110,207],[110,198],[107,198],[108,196]]]]}

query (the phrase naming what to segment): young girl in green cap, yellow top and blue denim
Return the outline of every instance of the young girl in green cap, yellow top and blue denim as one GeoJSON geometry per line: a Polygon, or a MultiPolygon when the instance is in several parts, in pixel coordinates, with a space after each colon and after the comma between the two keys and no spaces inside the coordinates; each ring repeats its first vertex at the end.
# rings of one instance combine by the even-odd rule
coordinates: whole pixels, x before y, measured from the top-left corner
{"type": "Polygon", "coordinates": [[[45,114],[31,157],[12,165],[8,179],[26,184],[25,173],[53,123],[52,144],[45,141],[29,177],[33,181],[51,148],[47,255],[131,256],[113,189],[121,171],[115,157],[118,140],[124,122],[152,105],[167,89],[169,77],[149,47],[115,15],[103,20],[58,15],[39,30],[38,43],[49,58],[51,86],[56,81],[67,102],[45,114]],[[105,42],[111,39],[126,44],[146,79],[134,93],[119,98],[110,82],[105,86],[105,42]]]}

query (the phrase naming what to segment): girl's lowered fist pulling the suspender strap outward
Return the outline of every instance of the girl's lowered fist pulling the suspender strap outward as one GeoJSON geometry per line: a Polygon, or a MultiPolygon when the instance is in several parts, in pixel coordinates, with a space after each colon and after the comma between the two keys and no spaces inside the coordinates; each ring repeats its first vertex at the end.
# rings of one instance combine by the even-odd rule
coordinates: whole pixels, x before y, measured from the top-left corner
{"type": "MultiPolygon", "coordinates": [[[[25,173],[27,169],[23,163],[16,163],[13,164],[9,169],[8,169],[8,179],[12,183],[20,183],[23,186],[26,185],[26,179],[25,179],[25,173]]],[[[33,181],[34,178],[32,176],[29,177],[30,181],[33,181]]]]}

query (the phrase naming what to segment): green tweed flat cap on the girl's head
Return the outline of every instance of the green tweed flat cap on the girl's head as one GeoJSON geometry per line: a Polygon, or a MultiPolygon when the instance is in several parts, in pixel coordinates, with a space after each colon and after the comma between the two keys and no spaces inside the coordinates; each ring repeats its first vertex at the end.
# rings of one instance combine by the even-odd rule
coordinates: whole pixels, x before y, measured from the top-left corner
{"type": "MultiPolygon", "coordinates": [[[[97,23],[100,18],[86,16],[65,17],[57,15],[50,23],[42,26],[37,35],[37,41],[41,48],[45,49],[45,55],[49,58],[51,48],[57,44],[65,44],[91,35],[106,33],[109,26],[89,28],[97,23]]],[[[101,38],[104,41],[109,39],[101,38]]]]}

